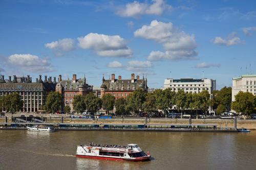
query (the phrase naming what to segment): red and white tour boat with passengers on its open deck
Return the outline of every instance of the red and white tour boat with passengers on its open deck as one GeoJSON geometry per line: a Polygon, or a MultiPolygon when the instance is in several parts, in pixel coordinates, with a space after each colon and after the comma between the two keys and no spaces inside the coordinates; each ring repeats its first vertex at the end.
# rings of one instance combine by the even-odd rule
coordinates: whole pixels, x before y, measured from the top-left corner
{"type": "Polygon", "coordinates": [[[111,144],[77,145],[77,157],[107,159],[107,160],[127,160],[127,161],[147,161],[150,160],[150,152],[145,154],[137,144],[126,146],[111,144]]]}

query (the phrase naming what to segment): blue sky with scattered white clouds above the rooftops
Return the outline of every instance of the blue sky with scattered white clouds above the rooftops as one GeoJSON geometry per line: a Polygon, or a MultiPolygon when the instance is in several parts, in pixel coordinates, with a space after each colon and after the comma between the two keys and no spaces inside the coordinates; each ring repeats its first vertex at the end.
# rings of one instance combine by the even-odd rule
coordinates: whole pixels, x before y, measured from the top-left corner
{"type": "Polygon", "coordinates": [[[256,1],[0,1],[0,70],[11,75],[131,79],[256,74],[256,1]]]}

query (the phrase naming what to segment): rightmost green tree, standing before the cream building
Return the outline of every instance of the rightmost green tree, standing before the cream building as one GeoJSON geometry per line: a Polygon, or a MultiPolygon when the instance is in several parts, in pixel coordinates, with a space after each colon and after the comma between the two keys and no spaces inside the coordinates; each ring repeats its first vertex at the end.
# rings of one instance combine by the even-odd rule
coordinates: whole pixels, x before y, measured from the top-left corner
{"type": "Polygon", "coordinates": [[[250,92],[239,91],[234,96],[235,101],[232,102],[232,109],[237,113],[249,115],[255,111],[256,99],[250,92]]]}

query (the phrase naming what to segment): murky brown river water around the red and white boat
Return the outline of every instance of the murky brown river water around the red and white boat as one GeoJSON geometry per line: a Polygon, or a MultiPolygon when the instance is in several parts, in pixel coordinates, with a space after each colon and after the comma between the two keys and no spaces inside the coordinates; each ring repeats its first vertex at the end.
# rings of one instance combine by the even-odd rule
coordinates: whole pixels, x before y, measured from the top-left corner
{"type": "Polygon", "coordinates": [[[0,130],[0,169],[256,169],[251,133],[0,130]],[[152,160],[75,157],[77,144],[137,143],[152,160]]]}

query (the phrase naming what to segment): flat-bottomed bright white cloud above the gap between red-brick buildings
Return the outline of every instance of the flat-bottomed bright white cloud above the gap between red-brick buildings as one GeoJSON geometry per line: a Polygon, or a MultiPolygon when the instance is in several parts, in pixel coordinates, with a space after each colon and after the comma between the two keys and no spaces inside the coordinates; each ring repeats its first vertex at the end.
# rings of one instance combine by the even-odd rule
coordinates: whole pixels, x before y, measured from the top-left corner
{"type": "Polygon", "coordinates": [[[99,56],[127,57],[132,55],[132,50],[119,35],[90,33],[84,37],[77,38],[77,40],[79,47],[92,49],[99,56]]]}

